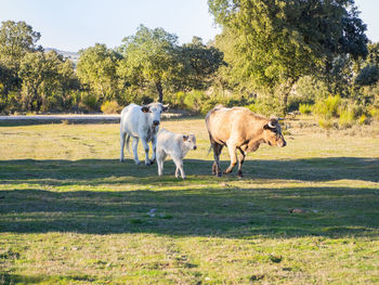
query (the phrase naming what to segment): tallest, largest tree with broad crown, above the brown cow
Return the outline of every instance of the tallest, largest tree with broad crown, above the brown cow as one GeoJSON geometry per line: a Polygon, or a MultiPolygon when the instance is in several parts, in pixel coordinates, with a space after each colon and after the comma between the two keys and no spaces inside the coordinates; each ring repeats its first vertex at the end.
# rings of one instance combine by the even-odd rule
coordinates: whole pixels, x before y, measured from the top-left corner
{"type": "Polygon", "coordinates": [[[280,90],[284,112],[300,77],[328,78],[337,59],[367,54],[366,26],[353,0],[208,0],[208,4],[233,40],[230,57],[236,74],[254,89],[280,90]]]}

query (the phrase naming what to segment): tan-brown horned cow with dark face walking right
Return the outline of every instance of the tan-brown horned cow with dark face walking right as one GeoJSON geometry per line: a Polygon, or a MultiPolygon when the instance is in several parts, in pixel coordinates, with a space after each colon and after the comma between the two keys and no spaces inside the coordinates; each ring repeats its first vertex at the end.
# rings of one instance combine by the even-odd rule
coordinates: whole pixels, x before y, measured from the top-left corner
{"type": "Polygon", "coordinates": [[[231,165],[224,173],[232,172],[237,164],[238,150],[240,155],[237,174],[243,177],[241,168],[247,153],[256,152],[261,143],[280,147],[287,144],[277,118],[266,119],[244,107],[215,106],[207,114],[206,124],[214,155],[212,172],[218,177],[221,177],[220,154],[225,145],[231,156],[231,165]]]}

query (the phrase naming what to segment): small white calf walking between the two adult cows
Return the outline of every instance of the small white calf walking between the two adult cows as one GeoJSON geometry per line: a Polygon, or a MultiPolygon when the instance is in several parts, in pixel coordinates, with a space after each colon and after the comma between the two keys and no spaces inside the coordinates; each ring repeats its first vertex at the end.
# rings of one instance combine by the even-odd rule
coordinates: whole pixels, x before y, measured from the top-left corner
{"type": "Polygon", "coordinates": [[[166,129],[159,130],[157,142],[158,176],[164,174],[164,163],[167,155],[170,155],[177,166],[175,177],[179,178],[180,171],[182,179],[185,179],[183,157],[190,150],[196,148],[195,134],[184,135],[181,133],[173,133],[166,129]]]}

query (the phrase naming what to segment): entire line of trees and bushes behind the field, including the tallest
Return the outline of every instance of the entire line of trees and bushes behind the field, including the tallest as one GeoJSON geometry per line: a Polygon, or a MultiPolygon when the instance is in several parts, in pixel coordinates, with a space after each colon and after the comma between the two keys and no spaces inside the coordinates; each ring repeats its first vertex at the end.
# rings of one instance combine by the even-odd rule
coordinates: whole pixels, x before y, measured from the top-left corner
{"type": "Polygon", "coordinates": [[[379,43],[354,1],[208,0],[222,27],[211,43],[178,44],[143,25],[122,44],[81,50],[77,66],[36,43],[23,22],[0,29],[0,108],[117,112],[165,101],[206,113],[215,104],[265,115],[300,111],[321,125],[379,117],[379,43]]]}

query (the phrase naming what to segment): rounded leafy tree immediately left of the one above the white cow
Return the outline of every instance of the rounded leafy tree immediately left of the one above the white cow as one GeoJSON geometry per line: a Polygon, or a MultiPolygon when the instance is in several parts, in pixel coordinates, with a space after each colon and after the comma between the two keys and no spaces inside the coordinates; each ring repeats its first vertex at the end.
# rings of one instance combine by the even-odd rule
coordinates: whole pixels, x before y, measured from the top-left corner
{"type": "Polygon", "coordinates": [[[115,99],[117,93],[116,67],[120,55],[105,44],[96,43],[80,50],[77,75],[100,101],[115,99]]]}

